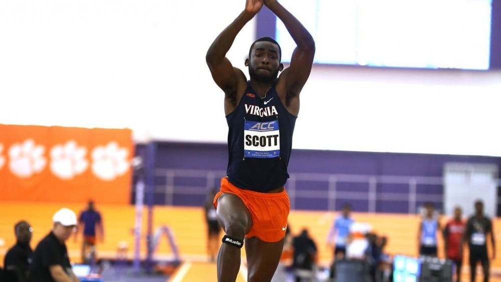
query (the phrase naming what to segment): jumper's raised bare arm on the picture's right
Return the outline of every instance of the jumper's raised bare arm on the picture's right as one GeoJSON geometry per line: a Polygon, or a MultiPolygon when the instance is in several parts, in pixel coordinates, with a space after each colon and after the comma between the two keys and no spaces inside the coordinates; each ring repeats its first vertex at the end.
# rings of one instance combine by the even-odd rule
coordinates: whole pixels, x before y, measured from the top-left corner
{"type": "MultiPolygon", "coordinates": [[[[287,101],[297,96],[306,84],[313,65],[315,41],[306,28],[277,0],[264,0],[265,5],[284,23],[296,43],[289,68],[285,69],[277,88],[285,86],[287,101]],[[280,84],[284,84],[281,86],[280,84]]],[[[305,2],[306,3],[306,2],[305,2]]],[[[299,106],[299,105],[298,105],[299,106]]]]}

